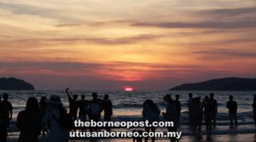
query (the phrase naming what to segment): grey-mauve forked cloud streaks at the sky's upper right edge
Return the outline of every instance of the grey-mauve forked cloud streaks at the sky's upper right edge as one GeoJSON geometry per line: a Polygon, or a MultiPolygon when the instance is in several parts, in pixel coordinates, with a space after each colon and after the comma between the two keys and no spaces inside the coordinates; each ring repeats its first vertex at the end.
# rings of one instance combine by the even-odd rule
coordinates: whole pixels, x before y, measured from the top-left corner
{"type": "Polygon", "coordinates": [[[131,26],[156,27],[156,28],[209,28],[209,29],[234,29],[234,28],[256,28],[256,7],[245,7],[237,9],[209,9],[195,11],[188,15],[208,19],[205,21],[171,21],[171,22],[135,22],[131,26]],[[246,14],[246,17],[242,14],[246,14]],[[242,16],[240,16],[242,15],[242,16]],[[236,20],[229,19],[230,16],[238,16],[236,20]],[[221,18],[218,19],[218,18],[221,18]]]}

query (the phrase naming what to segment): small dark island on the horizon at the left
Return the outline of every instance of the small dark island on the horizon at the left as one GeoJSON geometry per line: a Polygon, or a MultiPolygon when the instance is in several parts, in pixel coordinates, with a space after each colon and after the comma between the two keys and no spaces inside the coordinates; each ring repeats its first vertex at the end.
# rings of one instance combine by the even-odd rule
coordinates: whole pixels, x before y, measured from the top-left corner
{"type": "Polygon", "coordinates": [[[0,78],[0,90],[33,90],[33,84],[29,84],[24,80],[18,80],[14,77],[0,78]]]}

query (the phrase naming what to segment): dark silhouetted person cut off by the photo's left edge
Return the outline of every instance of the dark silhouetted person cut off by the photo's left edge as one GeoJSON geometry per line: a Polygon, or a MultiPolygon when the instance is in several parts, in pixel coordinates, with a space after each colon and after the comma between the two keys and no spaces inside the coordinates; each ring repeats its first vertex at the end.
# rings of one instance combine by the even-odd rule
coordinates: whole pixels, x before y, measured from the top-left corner
{"type": "MultiPolygon", "coordinates": [[[[0,95],[1,97],[1,95],[0,95]]],[[[7,127],[8,127],[8,110],[0,102],[0,141],[6,142],[7,138],[7,127]]]]}

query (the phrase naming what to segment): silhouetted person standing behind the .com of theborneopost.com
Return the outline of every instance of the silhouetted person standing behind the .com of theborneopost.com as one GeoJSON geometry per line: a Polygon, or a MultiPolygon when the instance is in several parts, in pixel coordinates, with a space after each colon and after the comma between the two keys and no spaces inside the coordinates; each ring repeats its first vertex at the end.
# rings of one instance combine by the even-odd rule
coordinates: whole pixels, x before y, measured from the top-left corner
{"type": "MultiPolygon", "coordinates": [[[[162,114],[164,115],[164,119],[166,121],[173,121],[174,126],[173,127],[168,127],[168,131],[177,131],[177,126],[176,126],[176,120],[177,120],[177,109],[174,103],[174,100],[171,98],[171,94],[166,94],[164,96],[164,101],[166,102],[166,112],[163,112],[162,114]]],[[[170,138],[171,142],[175,142],[177,139],[174,137],[170,138]]]]}

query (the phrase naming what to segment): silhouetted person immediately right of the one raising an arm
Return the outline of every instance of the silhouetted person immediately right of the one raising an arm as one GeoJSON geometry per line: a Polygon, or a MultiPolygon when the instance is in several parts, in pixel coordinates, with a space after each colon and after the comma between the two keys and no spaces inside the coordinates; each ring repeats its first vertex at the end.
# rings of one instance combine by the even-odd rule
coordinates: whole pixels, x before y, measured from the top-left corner
{"type": "Polygon", "coordinates": [[[78,104],[79,104],[79,119],[81,121],[87,120],[87,118],[86,118],[87,113],[88,113],[87,107],[88,107],[89,103],[90,103],[89,101],[85,100],[85,95],[82,94],[81,100],[78,102],[78,104]]]}

